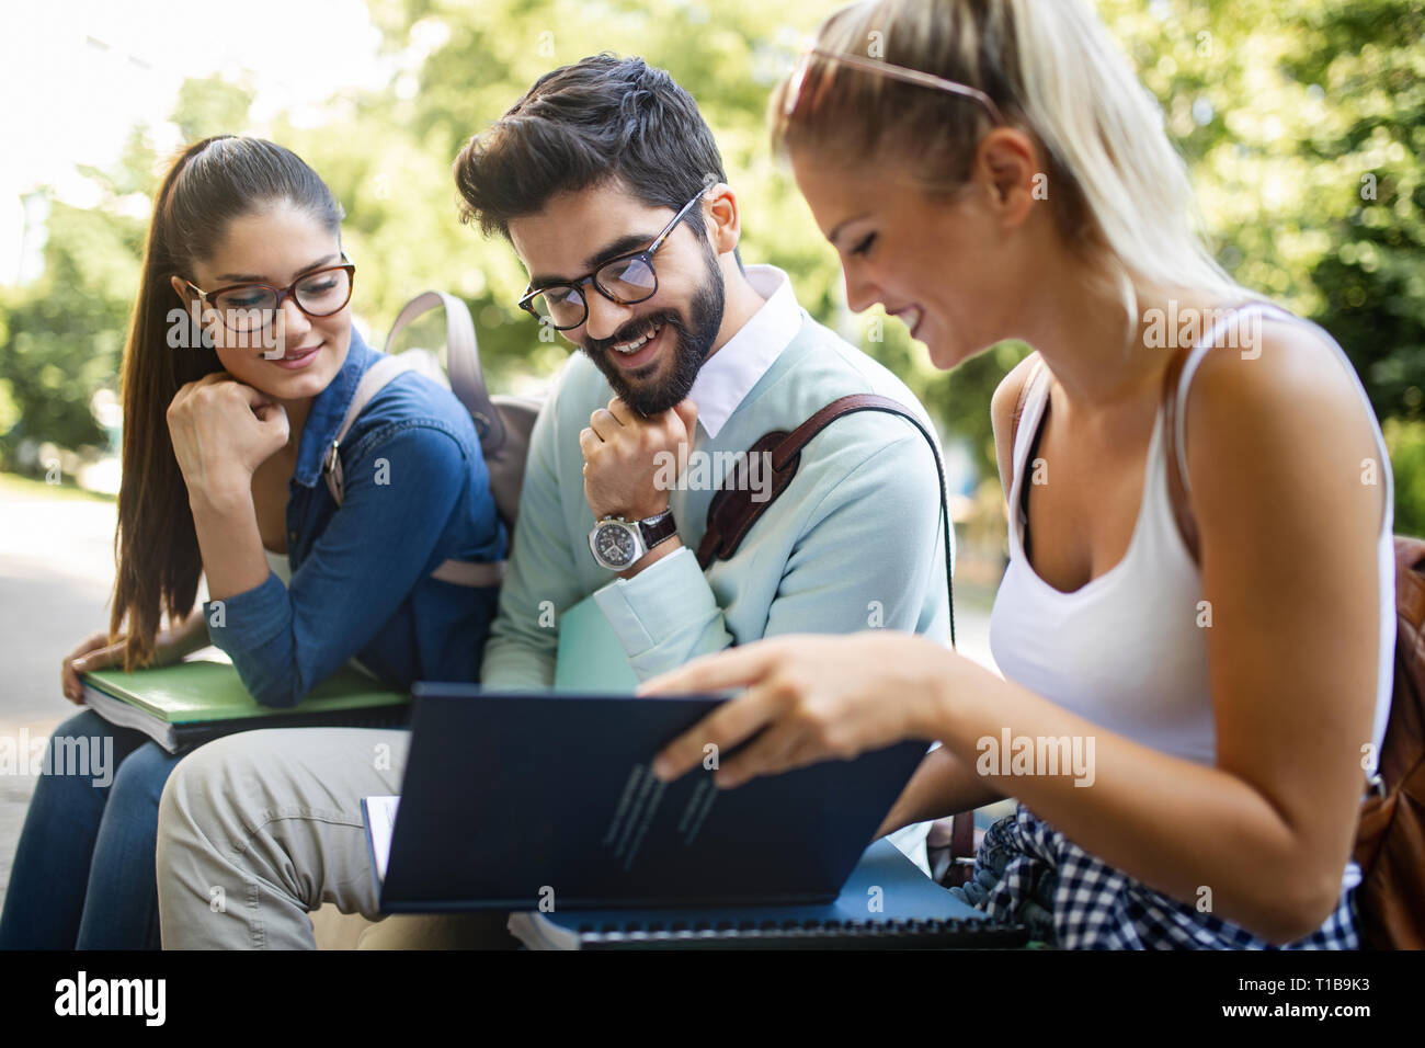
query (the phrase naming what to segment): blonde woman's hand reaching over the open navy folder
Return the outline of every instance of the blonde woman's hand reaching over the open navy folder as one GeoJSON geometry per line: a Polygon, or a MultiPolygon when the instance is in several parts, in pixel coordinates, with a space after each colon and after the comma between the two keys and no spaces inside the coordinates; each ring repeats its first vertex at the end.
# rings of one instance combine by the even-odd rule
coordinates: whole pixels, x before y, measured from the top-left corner
{"type": "Polygon", "coordinates": [[[915,635],[869,630],[774,637],[694,659],[644,682],[638,694],[747,692],[670,743],[654,773],[677,779],[704,760],[708,744],[725,754],[752,736],[737,756],[720,756],[720,787],[851,760],[903,739],[931,743],[939,730],[939,682],[956,657],[915,635]]]}

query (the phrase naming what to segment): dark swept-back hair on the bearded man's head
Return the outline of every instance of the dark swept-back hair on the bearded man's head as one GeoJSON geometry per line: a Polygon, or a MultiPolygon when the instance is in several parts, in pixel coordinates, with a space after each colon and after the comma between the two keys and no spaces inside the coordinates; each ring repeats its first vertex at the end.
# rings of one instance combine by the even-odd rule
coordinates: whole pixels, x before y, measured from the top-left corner
{"type": "MultiPolygon", "coordinates": [[[[596,54],[546,73],[455,161],[460,220],[509,240],[512,218],[560,192],[617,178],[650,207],[677,211],[722,157],[693,96],[643,58],[596,54]]],[[[700,208],[684,220],[705,238],[700,208]]]]}

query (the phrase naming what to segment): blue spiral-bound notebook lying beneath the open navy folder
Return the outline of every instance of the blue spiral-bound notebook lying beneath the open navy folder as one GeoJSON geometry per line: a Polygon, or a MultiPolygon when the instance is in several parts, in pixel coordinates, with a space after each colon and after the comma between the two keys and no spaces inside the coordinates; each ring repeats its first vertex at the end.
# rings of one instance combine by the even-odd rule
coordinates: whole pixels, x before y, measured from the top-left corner
{"type": "Polygon", "coordinates": [[[570,910],[510,914],[510,934],[530,950],[755,948],[778,945],[899,945],[901,937],[940,945],[1019,945],[1020,930],[989,921],[926,877],[891,841],[866,848],[834,903],[680,910],[570,910]],[[933,933],[933,934],[932,934],[933,933]]]}

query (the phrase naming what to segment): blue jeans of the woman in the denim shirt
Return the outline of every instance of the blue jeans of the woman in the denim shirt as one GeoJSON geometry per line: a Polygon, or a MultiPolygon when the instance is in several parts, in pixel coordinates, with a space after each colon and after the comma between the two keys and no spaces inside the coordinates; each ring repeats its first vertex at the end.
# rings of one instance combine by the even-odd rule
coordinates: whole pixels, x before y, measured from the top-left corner
{"type": "Polygon", "coordinates": [[[54,729],[14,854],[0,948],[160,947],[158,798],[180,759],[91,710],[54,729]]]}

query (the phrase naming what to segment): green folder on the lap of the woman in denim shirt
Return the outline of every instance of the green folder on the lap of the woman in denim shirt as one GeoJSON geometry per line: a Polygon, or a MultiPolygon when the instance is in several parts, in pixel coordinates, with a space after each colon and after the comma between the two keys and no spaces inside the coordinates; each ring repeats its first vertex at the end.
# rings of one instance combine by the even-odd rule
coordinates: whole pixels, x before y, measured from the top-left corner
{"type": "Polygon", "coordinates": [[[84,702],[111,724],[137,729],[178,753],[259,727],[393,727],[406,721],[410,696],[342,667],[296,706],[259,706],[231,663],[198,659],[134,673],[86,673],[84,702]]]}

